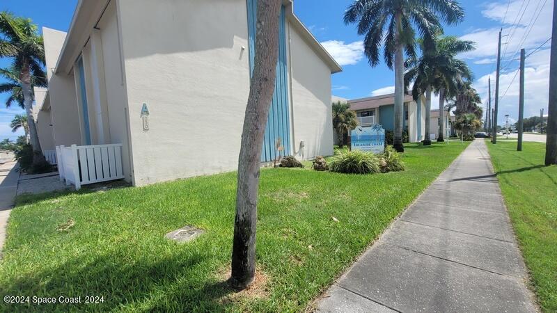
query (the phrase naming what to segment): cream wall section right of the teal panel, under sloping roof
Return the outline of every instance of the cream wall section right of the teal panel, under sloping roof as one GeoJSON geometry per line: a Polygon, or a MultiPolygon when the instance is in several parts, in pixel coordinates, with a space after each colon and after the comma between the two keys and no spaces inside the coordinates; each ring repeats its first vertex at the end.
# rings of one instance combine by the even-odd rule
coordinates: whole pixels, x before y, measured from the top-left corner
{"type": "Polygon", "coordinates": [[[332,155],[331,70],[290,24],[288,29],[294,151],[303,159],[332,155]]]}

